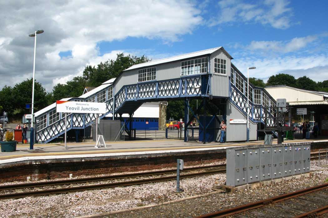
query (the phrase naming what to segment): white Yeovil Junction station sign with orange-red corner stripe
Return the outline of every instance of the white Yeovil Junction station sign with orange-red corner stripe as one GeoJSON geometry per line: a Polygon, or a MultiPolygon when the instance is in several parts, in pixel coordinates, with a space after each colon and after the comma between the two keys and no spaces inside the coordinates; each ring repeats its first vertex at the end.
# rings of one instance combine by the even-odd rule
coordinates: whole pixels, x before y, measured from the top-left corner
{"type": "Polygon", "coordinates": [[[62,113],[106,113],[106,103],[56,101],[56,112],[62,113]]]}

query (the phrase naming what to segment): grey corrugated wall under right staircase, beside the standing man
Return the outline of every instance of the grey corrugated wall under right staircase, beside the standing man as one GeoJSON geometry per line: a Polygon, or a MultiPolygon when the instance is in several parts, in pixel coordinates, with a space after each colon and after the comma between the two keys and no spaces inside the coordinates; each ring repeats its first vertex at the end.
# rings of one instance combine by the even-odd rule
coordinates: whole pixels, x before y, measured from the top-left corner
{"type": "MultiPolygon", "coordinates": [[[[246,141],[247,124],[230,124],[230,119],[247,119],[234,104],[227,102],[227,142],[246,141]]],[[[249,139],[256,140],[257,125],[250,121],[249,139]]]]}

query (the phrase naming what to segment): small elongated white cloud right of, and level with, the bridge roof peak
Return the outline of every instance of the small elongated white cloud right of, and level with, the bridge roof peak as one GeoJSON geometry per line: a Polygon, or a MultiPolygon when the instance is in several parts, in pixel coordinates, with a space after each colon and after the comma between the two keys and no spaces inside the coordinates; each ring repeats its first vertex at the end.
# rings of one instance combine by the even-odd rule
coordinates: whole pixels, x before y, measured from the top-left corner
{"type": "Polygon", "coordinates": [[[244,48],[264,52],[275,51],[280,53],[294,52],[305,48],[309,43],[317,40],[317,36],[296,37],[288,41],[252,41],[244,48]]]}

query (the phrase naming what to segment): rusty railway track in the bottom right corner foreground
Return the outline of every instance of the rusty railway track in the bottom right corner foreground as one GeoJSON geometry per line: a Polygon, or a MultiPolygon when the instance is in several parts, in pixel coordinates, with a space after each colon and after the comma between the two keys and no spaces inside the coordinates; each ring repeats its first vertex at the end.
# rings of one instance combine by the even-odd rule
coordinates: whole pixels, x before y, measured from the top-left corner
{"type": "Polygon", "coordinates": [[[317,217],[328,212],[328,183],[194,218],[317,217]],[[280,203],[279,203],[280,202],[280,203]],[[277,204],[279,203],[279,204],[277,204]],[[256,210],[255,210],[256,209],[256,210]],[[304,211],[310,210],[310,211],[304,211]],[[295,214],[296,213],[296,214],[295,214]]]}

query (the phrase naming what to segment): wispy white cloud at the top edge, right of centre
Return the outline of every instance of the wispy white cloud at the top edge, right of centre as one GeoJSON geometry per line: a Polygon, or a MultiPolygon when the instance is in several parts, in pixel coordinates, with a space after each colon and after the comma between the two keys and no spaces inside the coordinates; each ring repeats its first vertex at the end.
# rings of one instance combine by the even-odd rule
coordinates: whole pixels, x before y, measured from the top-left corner
{"type": "Polygon", "coordinates": [[[266,0],[263,4],[248,4],[239,0],[222,0],[218,2],[219,16],[210,21],[210,26],[223,23],[251,21],[263,25],[271,25],[277,29],[286,29],[290,26],[292,8],[288,8],[286,0],[266,0]]]}

